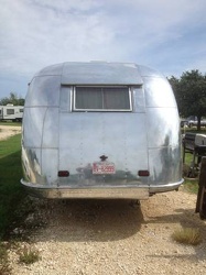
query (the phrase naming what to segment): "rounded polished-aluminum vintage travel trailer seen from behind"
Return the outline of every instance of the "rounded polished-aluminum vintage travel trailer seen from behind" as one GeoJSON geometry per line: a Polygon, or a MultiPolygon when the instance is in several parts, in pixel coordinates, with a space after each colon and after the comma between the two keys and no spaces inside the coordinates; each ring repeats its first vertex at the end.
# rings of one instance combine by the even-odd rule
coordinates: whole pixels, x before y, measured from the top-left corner
{"type": "Polygon", "coordinates": [[[46,198],[126,198],[183,183],[170,84],[130,63],[63,63],[29,85],[21,183],[46,198]]]}

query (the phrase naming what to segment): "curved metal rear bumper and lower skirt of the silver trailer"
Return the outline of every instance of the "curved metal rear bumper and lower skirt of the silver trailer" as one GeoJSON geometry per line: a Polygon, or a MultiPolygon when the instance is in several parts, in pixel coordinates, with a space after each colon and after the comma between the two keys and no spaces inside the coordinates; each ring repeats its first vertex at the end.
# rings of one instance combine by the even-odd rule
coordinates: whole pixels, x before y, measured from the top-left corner
{"type": "Polygon", "coordinates": [[[69,198],[94,198],[94,199],[148,199],[149,196],[175,190],[183,180],[164,185],[164,186],[111,186],[111,187],[51,187],[39,184],[26,183],[21,179],[21,184],[26,188],[28,193],[40,197],[51,199],[69,199],[69,198]]]}

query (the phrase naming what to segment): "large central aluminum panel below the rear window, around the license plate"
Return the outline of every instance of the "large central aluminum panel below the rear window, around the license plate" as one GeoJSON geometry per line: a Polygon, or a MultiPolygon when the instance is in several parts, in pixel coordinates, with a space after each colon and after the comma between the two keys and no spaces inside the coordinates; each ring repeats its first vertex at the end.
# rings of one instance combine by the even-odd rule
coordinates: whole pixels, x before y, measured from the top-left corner
{"type": "Polygon", "coordinates": [[[85,184],[83,180],[87,179],[87,185],[100,182],[107,182],[107,185],[115,182],[142,183],[138,170],[148,169],[145,114],[62,113],[58,169],[71,173],[65,184],[74,177],[76,184],[85,184]],[[135,139],[137,135],[139,139],[135,139]],[[101,155],[115,163],[116,175],[104,177],[91,174],[93,163],[99,162],[101,155]]]}

